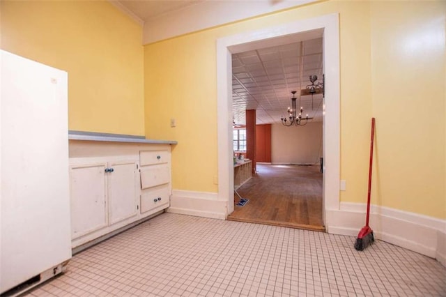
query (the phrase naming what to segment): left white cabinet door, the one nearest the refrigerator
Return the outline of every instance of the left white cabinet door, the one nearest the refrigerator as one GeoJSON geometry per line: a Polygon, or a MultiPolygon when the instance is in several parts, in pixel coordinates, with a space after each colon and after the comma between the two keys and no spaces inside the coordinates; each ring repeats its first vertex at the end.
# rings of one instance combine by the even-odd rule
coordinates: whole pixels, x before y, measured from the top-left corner
{"type": "Polygon", "coordinates": [[[106,165],[70,166],[72,238],[107,226],[106,165]]]}

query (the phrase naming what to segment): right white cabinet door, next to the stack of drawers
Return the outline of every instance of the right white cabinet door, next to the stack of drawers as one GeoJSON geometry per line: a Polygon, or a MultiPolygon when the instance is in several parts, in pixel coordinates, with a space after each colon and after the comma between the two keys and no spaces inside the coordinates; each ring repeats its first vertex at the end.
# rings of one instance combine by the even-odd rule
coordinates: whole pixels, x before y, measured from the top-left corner
{"type": "Polygon", "coordinates": [[[109,224],[137,214],[137,162],[109,162],[109,224]]]}

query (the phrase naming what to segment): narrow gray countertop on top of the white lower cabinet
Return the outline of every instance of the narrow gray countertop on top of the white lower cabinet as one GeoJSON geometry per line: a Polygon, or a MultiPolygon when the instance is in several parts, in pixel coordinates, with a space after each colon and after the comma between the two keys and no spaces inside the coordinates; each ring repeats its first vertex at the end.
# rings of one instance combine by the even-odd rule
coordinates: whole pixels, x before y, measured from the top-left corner
{"type": "Polygon", "coordinates": [[[91,142],[128,142],[137,144],[178,144],[174,140],[146,139],[144,136],[109,134],[85,131],[68,131],[70,140],[86,140],[91,142]]]}

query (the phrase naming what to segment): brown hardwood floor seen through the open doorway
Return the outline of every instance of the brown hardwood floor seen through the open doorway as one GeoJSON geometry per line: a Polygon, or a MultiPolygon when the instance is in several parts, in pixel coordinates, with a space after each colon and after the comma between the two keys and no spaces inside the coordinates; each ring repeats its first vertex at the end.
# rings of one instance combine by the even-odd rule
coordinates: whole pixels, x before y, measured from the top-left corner
{"type": "MultiPolygon", "coordinates": [[[[322,173],[318,166],[257,165],[257,174],[238,188],[245,206],[234,206],[228,220],[325,231],[322,173]]],[[[237,204],[239,197],[234,193],[237,204]]]]}

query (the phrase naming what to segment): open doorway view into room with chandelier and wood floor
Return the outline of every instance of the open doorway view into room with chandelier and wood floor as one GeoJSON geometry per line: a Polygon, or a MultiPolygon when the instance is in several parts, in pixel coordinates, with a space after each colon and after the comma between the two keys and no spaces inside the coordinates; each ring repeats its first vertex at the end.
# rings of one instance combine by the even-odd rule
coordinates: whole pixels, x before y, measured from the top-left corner
{"type": "MultiPolygon", "coordinates": [[[[235,155],[253,158],[255,174],[236,189],[243,198],[235,197],[235,211],[228,220],[324,230],[319,170],[323,38],[249,50],[231,58],[233,149],[235,155]],[[240,151],[242,140],[236,132],[245,131],[246,125],[252,133],[243,140],[248,144],[245,151],[240,151]]],[[[235,187],[239,166],[234,165],[235,187]]]]}

